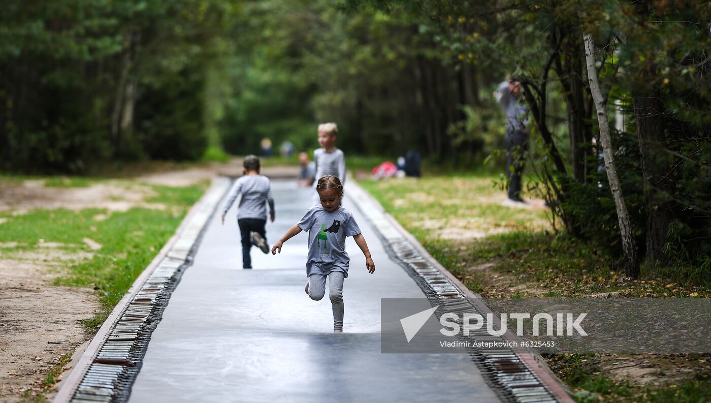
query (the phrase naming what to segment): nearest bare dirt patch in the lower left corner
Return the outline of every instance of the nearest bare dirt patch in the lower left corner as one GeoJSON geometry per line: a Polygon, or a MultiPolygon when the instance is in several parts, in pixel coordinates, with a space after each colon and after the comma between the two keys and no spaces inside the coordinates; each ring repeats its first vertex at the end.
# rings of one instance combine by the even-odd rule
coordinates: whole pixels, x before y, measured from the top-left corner
{"type": "Polygon", "coordinates": [[[81,321],[99,308],[91,289],[51,286],[62,261],[90,253],[48,248],[37,255],[14,253],[0,260],[0,402],[23,402],[23,392],[40,392],[50,367],[88,339],[81,321]]]}

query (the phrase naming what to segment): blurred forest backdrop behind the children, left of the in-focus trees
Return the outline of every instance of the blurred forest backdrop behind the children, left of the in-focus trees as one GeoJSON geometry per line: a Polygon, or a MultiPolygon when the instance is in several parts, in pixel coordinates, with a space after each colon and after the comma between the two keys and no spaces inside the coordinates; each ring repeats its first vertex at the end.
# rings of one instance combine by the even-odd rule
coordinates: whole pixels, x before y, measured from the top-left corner
{"type": "Polygon", "coordinates": [[[0,25],[6,170],[244,155],[263,137],[310,150],[324,121],[351,154],[419,148],[469,164],[502,144],[489,96],[502,63],[478,54],[488,67],[477,67],[415,14],[326,0],[9,0],[0,25]]]}

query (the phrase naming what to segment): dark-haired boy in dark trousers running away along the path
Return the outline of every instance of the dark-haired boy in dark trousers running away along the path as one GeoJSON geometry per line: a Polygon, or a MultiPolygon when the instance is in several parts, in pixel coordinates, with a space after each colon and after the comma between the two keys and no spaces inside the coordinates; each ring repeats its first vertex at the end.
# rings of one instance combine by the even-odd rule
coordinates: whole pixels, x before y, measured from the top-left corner
{"type": "Polygon", "coordinates": [[[223,208],[223,225],[225,216],[235,203],[237,196],[242,194],[240,206],[237,208],[237,224],[242,235],[242,267],[252,268],[250,249],[255,244],[264,253],[269,253],[267,245],[267,202],[269,203],[269,218],[274,222],[274,197],[269,186],[269,178],[260,175],[260,159],[255,155],[247,155],[242,163],[244,175],[235,181],[235,186],[223,208]]]}

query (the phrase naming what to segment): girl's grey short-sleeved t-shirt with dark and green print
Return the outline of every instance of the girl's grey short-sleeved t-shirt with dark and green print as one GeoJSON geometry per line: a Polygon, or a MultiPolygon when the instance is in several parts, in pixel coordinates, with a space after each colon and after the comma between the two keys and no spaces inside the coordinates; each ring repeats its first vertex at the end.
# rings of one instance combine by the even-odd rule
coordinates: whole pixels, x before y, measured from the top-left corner
{"type": "Polygon", "coordinates": [[[306,276],[342,271],[343,276],[348,277],[351,258],[346,253],[346,236],[360,234],[351,211],[341,207],[329,212],[319,204],[306,211],[297,225],[301,230],[309,231],[306,276]]]}

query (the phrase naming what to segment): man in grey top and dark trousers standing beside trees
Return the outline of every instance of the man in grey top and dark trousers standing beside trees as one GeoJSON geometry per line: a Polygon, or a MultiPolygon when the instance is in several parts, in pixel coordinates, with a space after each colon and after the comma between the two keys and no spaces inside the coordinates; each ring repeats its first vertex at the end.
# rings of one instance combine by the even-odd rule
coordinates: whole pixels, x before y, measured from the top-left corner
{"type": "Polygon", "coordinates": [[[508,198],[519,203],[521,199],[521,174],[525,152],[528,150],[528,107],[521,97],[521,83],[511,77],[498,85],[496,100],[506,113],[506,172],[508,174],[508,198]]]}

